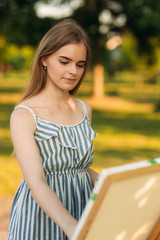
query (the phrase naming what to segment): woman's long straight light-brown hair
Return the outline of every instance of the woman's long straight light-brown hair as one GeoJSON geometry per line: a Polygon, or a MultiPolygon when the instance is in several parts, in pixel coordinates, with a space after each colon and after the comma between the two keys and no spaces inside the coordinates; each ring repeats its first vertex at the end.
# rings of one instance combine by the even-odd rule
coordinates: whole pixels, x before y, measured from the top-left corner
{"type": "Polygon", "coordinates": [[[83,43],[87,50],[83,75],[75,88],[70,91],[70,94],[75,95],[90,61],[90,42],[85,31],[73,19],[65,19],[52,27],[42,38],[34,57],[30,81],[22,100],[37,95],[46,85],[46,70],[43,69],[41,59],[72,43],[83,43]]]}

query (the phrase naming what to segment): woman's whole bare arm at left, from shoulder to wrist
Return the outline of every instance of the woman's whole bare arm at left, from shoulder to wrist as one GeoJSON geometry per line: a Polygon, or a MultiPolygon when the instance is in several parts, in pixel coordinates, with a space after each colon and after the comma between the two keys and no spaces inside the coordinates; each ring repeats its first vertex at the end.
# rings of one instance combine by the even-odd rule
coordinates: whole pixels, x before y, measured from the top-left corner
{"type": "Polygon", "coordinates": [[[39,151],[34,139],[35,125],[33,116],[27,110],[16,109],[12,113],[11,137],[16,156],[34,200],[71,238],[77,221],[46,183],[39,151]]]}

